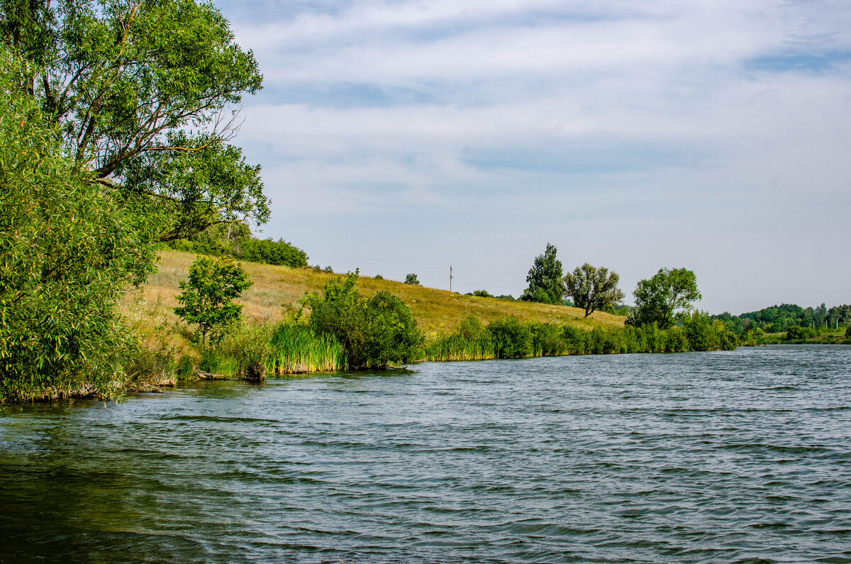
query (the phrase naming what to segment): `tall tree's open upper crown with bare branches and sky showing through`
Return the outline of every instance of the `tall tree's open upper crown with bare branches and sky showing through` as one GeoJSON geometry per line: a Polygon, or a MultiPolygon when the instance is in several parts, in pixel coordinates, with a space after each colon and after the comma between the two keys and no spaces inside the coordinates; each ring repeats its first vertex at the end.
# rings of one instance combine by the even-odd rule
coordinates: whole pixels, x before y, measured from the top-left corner
{"type": "Polygon", "coordinates": [[[151,240],[266,221],[259,167],[226,142],[227,106],[262,78],[211,3],[4,0],[0,43],[22,61],[17,91],[151,240]]]}

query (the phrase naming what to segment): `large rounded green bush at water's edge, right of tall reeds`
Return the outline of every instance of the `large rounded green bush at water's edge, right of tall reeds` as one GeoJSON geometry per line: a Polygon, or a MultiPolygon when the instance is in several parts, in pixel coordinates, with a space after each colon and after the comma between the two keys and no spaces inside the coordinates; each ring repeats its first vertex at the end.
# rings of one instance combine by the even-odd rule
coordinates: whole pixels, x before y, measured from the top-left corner
{"type": "Polygon", "coordinates": [[[354,368],[414,360],[422,337],[408,307],[387,292],[367,299],[356,285],[357,272],[348,273],[329,280],[323,295],[306,294],[302,303],[311,308],[311,329],[317,335],[334,335],[354,368]]]}

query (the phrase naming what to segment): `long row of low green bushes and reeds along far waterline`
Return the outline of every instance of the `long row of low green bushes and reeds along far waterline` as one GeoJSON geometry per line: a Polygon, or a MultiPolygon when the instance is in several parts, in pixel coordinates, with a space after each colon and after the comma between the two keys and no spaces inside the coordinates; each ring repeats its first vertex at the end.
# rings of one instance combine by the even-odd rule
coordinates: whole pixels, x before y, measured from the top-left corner
{"type": "Polygon", "coordinates": [[[431,342],[426,360],[517,359],[565,354],[680,353],[736,348],[735,335],[722,323],[711,323],[696,312],[683,326],[662,330],[655,324],[640,327],[594,327],[583,331],[573,325],[524,323],[498,319],[487,326],[465,319],[457,331],[431,342]]]}

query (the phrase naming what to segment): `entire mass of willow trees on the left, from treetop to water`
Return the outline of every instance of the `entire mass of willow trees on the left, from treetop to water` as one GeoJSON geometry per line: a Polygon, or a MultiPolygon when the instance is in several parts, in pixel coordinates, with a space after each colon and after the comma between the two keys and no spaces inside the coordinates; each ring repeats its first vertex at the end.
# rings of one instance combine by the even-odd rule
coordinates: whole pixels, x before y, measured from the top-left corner
{"type": "Polygon", "coordinates": [[[208,3],[0,0],[0,400],[117,389],[154,244],[266,221],[230,144],[260,83],[208,3]]]}

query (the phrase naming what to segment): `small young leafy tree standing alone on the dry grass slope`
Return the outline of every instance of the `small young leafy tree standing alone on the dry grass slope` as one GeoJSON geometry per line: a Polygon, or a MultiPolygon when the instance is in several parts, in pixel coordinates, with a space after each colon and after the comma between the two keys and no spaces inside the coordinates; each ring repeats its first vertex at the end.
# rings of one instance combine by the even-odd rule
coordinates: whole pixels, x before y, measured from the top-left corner
{"type": "Polygon", "coordinates": [[[180,282],[183,292],[174,313],[198,326],[202,347],[208,334],[215,340],[221,331],[240,318],[243,307],[233,303],[253,283],[231,256],[197,256],[189,267],[189,280],[180,282]]]}

